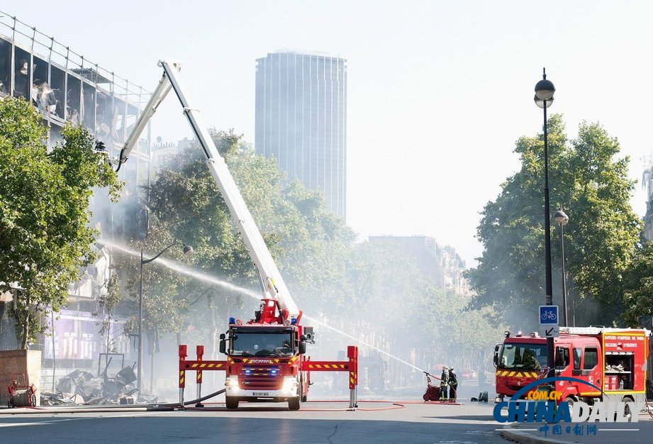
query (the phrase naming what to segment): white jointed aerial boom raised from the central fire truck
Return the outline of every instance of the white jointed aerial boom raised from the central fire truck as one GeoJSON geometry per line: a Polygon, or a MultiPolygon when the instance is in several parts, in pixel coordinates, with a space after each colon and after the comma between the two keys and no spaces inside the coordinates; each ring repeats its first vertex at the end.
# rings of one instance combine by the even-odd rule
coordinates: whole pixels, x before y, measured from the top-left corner
{"type": "Polygon", "coordinates": [[[242,199],[240,190],[236,186],[225,160],[218,152],[216,145],[211,139],[211,135],[206,131],[206,127],[200,122],[199,112],[197,109],[191,108],[189,101],[184,95],[184,91],[179,83],[181,65],[176,62],[161,60],[159,66],[163,68],[163,76],[157,89],[152,93],[150,101],[147,102],[145,109],[143,109],[143,113],[140,114],[138,121],[136,121],[133,131],[125,141],[125,145],[118,159],[116,171],[120,170],[121,165],[127,160],[131,150],[138,142],[140,134],[143,133],[150,118],[157,111],[157,108],[163,99],[165,99],[170,89],[174,89],[174,93],[177,94],[177,98],[182,104],[184,114],[188,118],[193,132],[204,150],[206,165],[208,165],[213,179],[216,180],[216,184],[220,188],[220,192],[229,207],[231,216],[233,216],[234,221],[238,225],[242,239],[245,240],[247,250],[250,253],[250,257],[252,257],[252,262],[254,262],[257,268],[259,279],[264,287],[264,297],[266,299],[276,300],[279,311],[287,310],[289,318],[298,318],[301,313],[292,299],[288,287],[286,287],[284,279],[281,277],[281,273],[279,273],[277,265],[272,259],[272,255],[267,249],[267,245],[254,222],[254,218],[252,218],[252,214],[247,209],[245,200],[242,199]]]}

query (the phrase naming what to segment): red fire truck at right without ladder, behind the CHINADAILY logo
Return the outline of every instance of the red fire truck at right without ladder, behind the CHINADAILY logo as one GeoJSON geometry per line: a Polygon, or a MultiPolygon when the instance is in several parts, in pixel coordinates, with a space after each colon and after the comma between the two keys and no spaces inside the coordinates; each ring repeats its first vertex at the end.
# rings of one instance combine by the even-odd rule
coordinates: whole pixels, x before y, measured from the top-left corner
{"type": "MultiPolygon", "coordinates": [[[[574,377],[603,389],[610,397],[644,401],[651,332],[635,328],[561,327],[554,339],[555,375],[574,377]]],[[[497,401],[512,396],[535,379],[546,377],[547,340],[537,333],[510,335],[494,349],[497,401]]],[[[605,396],[586,384],[556,384],[558,401],[585,401],[605,396]]]]}

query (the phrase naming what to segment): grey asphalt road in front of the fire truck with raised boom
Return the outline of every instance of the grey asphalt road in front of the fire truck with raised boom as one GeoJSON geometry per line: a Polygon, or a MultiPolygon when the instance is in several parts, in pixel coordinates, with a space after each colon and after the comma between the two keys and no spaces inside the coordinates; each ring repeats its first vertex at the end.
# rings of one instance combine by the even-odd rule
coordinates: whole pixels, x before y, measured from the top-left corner
{"type": "Polygon", "coordinates": [[[110,411],[9,415],[0,411],[0,443],[501,443],[493,404],[308,402],[224,404],[186,411],[110,411]],[[241,404],[242,405],[242,404],[241,404]]]}

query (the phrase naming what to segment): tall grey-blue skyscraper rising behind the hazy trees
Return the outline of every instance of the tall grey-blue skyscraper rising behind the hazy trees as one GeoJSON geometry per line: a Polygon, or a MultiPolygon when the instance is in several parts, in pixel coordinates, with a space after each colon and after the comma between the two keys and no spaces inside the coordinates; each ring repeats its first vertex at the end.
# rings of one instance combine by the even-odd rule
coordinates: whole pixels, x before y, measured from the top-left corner
{"type": "Polygon", "coordinates": [[[345,218],[347,67],[345,59],[280,50],[257,59],[255,148],[274,156],[308,189],[323,192],[345,218]]]}

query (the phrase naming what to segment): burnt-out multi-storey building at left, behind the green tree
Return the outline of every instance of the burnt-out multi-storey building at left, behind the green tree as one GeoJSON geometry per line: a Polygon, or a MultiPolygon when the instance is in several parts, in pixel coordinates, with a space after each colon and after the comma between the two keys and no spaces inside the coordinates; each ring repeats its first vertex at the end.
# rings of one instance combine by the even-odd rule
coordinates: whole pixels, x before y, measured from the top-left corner
{"type": "MultiPolygon", "coordinates": [[[[6,96],[23,98],[40,111],[43,126],[48,129],[49,148],[62,141],[62,128],[72,123],[84,126],[96,140],[103,142],[113,158],[118,156],[150,92],[0,11],[0,100],[6,96]]],[[[139,185],[147,184],[149,133],[144,132],[146,136],[138,141],[130,162],[121,168],[119,179],[125,182],[123,195],[138,198],[142,192],[139,185]]],[[[134,215],[140,211],[111,203],[102,193],[94,195],[90,209],[91,224],[104,238],[121,242],[133,237],[133,227],[138,226],[139,217],[134,215]]],[[[43,351],[41,382],[45,387],[49,384],[54,387],[53,379],[74,369],[97,373],[99,357],[108,351],[99,334],[103,318],[92,313],[101,313],[97,301],[99,294],[106,291],[111,274],[111,252],[102,243],[97,243],[94,250],[98,259],[69,287],[66,309],[48,316],[48,324],[54,323],[55,335],[30,345],[43,351]]],[[[11,292],[0,294],[0,350],[17,346],[9,313],[12,297],[11,292]]],[[[131,363],[136,352],[130,350],[128,338],[121,338],[119,324],[120,321],[113,326],[116,335],[113,348],[123,358],[127,354],[129,359],[125,361],[131,363]]]]}

